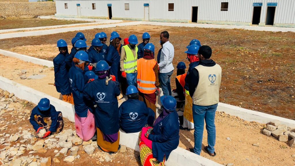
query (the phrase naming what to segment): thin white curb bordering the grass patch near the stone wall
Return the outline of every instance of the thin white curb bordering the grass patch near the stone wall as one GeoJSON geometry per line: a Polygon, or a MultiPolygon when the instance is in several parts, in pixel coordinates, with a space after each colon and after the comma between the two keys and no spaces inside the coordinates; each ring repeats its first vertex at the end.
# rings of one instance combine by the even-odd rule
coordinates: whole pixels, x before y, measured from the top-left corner
{"type": "Polygon", "coordinates": [[[122,20],[112,20],[112,21],[89,22],[89,23],[79,23],[79,24],[54,25],[54,26],[46,26],[46,27],[17,28],[17,29],[0,30],[0,33],[14,32],[14,31],[26,31],[26,30],[40,30],[40,29],[47,29],[47,28],[53,29],[53,28],[71,27],[71,26],[79,26],[79,25],[110,24],[110,23],[118,23],[118,22],[123,22],[123,21],[122,20]]]}

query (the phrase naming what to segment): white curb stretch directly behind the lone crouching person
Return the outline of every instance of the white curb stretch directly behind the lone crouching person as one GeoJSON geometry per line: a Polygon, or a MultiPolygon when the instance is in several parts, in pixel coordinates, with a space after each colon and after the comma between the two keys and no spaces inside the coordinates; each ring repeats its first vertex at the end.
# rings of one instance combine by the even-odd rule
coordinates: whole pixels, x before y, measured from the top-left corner
{"type": "Polygon", "coordinates": [[[57,111],[61,111],[63,113],[63,117],[67,118],[70,121],[75,121],[75,111],[74,106],[70,103],[64,102],[63,100],[59,100],[58,98],[52,97],[30,87],[24,86],[17,82],[11,81],[7,78],[0,76],[0,88],[3,90],[7,90],[10,93],[14,93],[14,95],[20,99],[27,100],[34,104],[38,104],[40,99],[46,97],[50,100],[50,104],[52,104],[57,111]]]}

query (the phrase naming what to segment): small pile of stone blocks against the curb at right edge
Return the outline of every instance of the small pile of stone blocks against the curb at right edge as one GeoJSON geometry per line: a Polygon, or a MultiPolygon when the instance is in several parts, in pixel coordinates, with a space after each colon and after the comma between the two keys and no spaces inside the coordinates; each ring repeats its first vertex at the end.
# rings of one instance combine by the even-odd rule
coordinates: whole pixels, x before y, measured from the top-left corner
{"type": "Polygon", "coordinates": [[[262,131],[267,136],[274,136],[282,142],[288,142],[290,147],[295,147],[295,127],[281,124],[280,121],[274,120],[266,125],[262,131]]]}

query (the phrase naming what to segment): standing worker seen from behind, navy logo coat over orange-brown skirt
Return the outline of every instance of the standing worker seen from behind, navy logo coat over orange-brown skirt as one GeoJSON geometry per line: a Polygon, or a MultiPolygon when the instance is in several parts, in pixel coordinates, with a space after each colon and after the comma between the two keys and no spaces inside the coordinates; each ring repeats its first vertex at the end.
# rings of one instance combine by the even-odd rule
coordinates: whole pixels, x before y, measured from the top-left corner
{"type": "Polygon", "coordinates": [[[109,65],[99,61],[96,65],[98,79],[86,84],[83,95],[94,105],[95,124],[97,127],[97,145],[101,150],[113,154],[120,149],[119,140],[119,106],[117,96],[120,95],[120,84],[116,77],[109,76],[109,65]]]}

